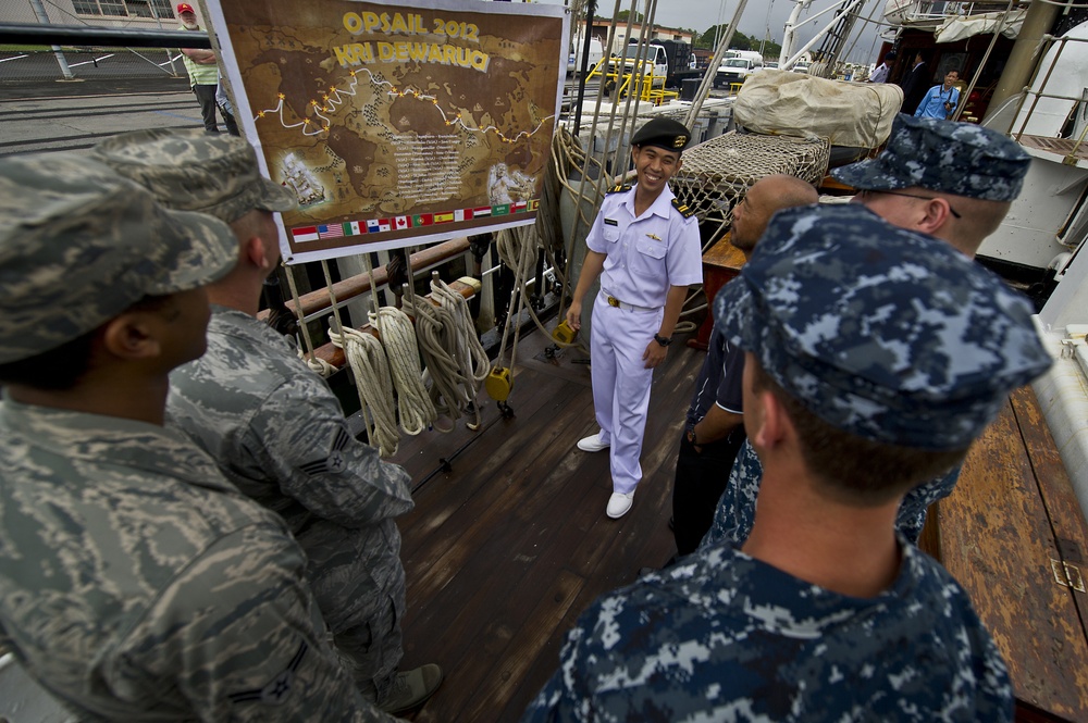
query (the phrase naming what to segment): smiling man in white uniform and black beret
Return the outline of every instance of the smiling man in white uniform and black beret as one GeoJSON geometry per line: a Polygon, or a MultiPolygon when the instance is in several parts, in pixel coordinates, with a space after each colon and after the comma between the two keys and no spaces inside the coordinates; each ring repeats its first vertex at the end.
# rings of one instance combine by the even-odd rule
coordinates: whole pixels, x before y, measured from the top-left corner
{"type": "Polygon", "coordinates": [[[654,367],[668,352],[688,287],[703,281],[698,224],[668,187],[690,140],[688,128],[667,119],[650,121],[634,134],[631,160],[638,184],[605,197],[585,239],[589,250],[567,311],[567,323],[578,331],[582,300],[599,275],[590,353],[601,431],[581,439],[578,448],[610,448],[609,518],[631,509],[642,481],[639,457],[654,367]]]}

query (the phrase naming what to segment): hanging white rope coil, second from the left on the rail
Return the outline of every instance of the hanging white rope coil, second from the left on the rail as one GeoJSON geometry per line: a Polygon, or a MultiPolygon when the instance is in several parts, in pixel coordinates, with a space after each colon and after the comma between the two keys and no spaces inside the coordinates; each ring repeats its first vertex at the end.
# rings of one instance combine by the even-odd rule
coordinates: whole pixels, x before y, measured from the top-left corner
{"type": "Polygon", "coordinates": [[[412,436],[428,428],[437,417],[434,402],[423,384],[419,365],[416,331],[408,314],[394,307],[379,310],[381,321],[370,314],[371,326],[382,327],[382,346],[390,362],[393,386],[397,391],[400,428],[412,436]]]}

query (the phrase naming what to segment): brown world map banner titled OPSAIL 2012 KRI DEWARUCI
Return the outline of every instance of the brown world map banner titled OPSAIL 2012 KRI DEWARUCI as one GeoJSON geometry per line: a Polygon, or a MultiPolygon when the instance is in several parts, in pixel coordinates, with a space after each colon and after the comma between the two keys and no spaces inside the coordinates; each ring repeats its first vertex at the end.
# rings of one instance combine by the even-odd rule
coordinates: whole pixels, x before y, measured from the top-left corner
{"type": "Polygon", "coordinates": [[[287,263],[533,223],[566,71],[560,5],[207,5],[235,116],[298,197],[287,263]]]}

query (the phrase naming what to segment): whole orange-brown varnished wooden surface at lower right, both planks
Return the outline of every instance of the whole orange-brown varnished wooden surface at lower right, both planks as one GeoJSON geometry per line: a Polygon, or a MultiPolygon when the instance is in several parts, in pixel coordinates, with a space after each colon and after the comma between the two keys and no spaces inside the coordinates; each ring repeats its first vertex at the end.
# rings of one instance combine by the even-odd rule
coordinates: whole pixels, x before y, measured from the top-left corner
{"type": "Polygon", "coordinates": [[[1088,723],[1088,525],[1030,388],[1011,395],[936,508],[922,547],[993,635],[1017,720],[1088,723]]]}

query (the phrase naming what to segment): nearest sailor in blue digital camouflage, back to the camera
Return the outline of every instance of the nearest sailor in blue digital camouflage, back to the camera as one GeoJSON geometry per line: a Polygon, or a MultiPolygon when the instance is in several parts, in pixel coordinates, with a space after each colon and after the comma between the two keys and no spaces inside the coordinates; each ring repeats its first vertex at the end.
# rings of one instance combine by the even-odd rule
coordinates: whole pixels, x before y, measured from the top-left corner
{"type": "Polygon", "coordinates": [[[766,466],[752,535],[596,601],[523,720],[1011,721],[965,591],[892,522],[1050,365],[1030,304],[831,205],[776,214],[717,312],[766,466]]]}

